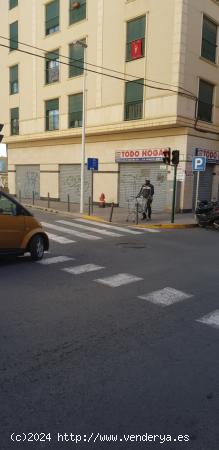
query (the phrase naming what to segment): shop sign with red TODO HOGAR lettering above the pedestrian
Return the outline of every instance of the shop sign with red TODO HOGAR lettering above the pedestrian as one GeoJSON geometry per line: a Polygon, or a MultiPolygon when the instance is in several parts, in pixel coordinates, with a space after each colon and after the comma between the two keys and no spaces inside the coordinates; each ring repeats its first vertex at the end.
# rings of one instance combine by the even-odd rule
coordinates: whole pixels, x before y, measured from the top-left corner
{"type": "Polygon", "coordinates": [[[169,148],[122,150],[116,152],[116,162],[161,162],[165,150],[169,150],[169,148]]]}

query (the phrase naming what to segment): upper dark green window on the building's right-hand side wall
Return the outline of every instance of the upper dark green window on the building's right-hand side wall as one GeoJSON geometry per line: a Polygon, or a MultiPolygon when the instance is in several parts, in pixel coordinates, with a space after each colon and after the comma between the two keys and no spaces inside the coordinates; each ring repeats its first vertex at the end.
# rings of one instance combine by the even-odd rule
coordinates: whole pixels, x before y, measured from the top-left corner
{"type": "Polygon", "coordinates": [[[202,51],[203,58],[215,62],[217,49],[217,25],[204,17],[202,28],[202,51]]]}

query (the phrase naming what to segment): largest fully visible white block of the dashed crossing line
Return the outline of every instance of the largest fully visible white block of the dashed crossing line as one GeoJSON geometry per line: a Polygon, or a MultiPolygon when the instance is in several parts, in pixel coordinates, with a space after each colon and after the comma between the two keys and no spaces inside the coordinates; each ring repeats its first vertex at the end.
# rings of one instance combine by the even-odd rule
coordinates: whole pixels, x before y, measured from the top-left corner
{"type": "Polygon", "coordinates": [[[161,306],[170,306],[174,303],[181,302],[182,300],[186,300],[191,297],[193,297],[193,295],[186,294],[185,292],[178,291],[170,287],[166,287],[164,289],[161,289],[160,291],[151,292],[150,294],[138,296],[138,298],[142,300],[147,300],[151,303],[161,306]]]}

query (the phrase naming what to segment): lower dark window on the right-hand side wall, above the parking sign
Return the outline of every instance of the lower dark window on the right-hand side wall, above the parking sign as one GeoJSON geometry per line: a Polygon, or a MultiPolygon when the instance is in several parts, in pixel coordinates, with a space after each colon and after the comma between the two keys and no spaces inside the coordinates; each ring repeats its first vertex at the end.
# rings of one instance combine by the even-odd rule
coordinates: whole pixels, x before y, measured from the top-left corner
{"type": "Polygon", "coordinates": [[[212,121],[214,86],[206,81],[199,81],[198,119],[212,121]]]}

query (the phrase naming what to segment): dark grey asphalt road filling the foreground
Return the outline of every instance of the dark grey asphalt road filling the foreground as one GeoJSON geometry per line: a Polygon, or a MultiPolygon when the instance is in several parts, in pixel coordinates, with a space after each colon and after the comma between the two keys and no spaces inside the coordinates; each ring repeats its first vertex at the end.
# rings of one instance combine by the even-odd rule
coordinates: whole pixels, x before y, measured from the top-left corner
{"type": "Polygon", "coordinates": [[[219,233],[48,231],[65,260],[0,262],[0,449],[218,450],[219,233]]]}

